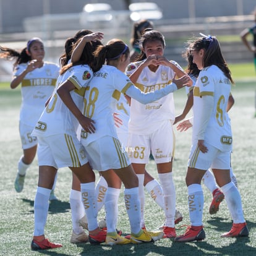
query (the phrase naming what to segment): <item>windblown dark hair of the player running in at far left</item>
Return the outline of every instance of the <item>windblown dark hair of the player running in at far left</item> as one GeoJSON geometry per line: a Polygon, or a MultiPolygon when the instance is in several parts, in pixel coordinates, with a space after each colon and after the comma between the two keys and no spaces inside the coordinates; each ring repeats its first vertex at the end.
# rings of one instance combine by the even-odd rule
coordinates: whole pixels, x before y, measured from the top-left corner
{"type": "Polygon", "coordinates": [[[30,40],[28,40],[27,46],[23,48],[21,51],[0,46],[0,49],[1,49],[0,58],[4,58],[7,60],[16,59],[16,61],[14,62],[14,67],[22,63],[27,63],[28,61],[31,61],[31,56],[27,54],[27,51],[28,53],[30,53],[30,48],[35,42],[38,42],[38,41],[43,44],[43,41],[40,38],[38,37],[31,38],[30,40]]]}

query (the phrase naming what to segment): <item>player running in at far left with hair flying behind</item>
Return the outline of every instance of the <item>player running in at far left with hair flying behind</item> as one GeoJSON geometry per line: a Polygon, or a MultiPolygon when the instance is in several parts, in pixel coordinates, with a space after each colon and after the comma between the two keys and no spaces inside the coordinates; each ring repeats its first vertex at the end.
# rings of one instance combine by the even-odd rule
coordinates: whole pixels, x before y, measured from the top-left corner
{"type": "MultiPolygon", "coordinates": [[[[18,171],[14,187],[22,192],[25,174],[35,158],[38,140],[32,136],[46,100],[53,93],[59,76],[59,66],[44,61],[45,48],[40,38],[31,38],[21,52],[11,48],[0,47],[1,58],[16,59],[11,88],[17,88],[21,83],[22,105],[20,108],[19,132],[22,142],[23,155],[18,162],[18,171]]],[[[54,190],[50,199],[57,199],[54,190]]]]}

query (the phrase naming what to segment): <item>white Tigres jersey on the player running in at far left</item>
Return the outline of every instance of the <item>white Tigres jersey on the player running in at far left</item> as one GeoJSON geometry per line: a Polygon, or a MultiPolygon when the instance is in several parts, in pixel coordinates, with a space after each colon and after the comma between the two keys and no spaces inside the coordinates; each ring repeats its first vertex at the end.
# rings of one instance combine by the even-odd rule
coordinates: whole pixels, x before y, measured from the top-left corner
{"type": "MultiPolygon", "coordinates": [[[[27,66],[28,63],[22,63],[15,67],[14,76],[20,75],[27,66]]],[[[50,62],[44,62],[43,67],[25,75],[21,83],[20,122],[35,126],[45,108],[46,100],[53,93],[58,76],[59,66],[50,62]]]]}

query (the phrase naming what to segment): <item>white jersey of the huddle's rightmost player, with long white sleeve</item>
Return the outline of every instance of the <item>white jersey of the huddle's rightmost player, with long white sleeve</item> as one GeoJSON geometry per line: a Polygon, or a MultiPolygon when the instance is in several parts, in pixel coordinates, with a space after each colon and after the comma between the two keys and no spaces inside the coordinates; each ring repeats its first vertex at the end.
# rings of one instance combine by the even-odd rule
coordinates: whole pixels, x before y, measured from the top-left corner
{"type": "Polygon", "coordinates": [[[228,113],[226,112],[231,90],[230,80],[217,66],[206,67],[198,75],[194,93],[194,121],[192,142],[197,143],[198,130],[202,115],[202,96],[214,98],[214,108],[205,129],[205,142],[221,151],[232,150],[232,132],[228,113]]]}

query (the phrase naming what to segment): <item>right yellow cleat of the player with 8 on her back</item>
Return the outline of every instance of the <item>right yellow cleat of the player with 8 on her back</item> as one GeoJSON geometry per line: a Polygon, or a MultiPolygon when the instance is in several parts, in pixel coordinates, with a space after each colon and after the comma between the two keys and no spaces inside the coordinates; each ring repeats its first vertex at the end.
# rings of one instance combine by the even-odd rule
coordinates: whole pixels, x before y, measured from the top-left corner
{"type": "Polygon", "coordinates": [[[163,231],[146,231],[145,229],[142,229],[138,236],[135,234],[130,234],[130,242],[132,244],[140,244],[142,242],[155,242],[159,239],[163,238],[164,233],[163,231]]]}

